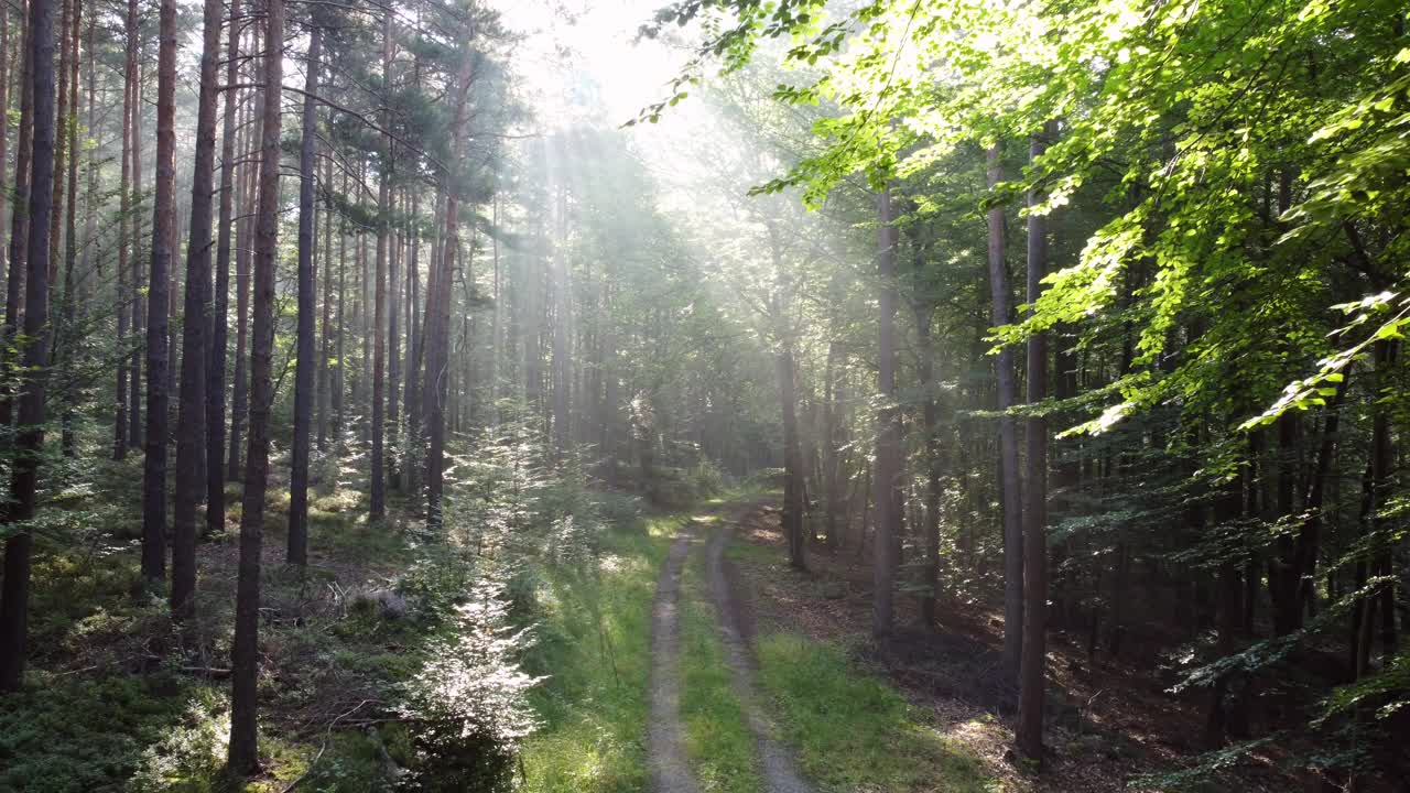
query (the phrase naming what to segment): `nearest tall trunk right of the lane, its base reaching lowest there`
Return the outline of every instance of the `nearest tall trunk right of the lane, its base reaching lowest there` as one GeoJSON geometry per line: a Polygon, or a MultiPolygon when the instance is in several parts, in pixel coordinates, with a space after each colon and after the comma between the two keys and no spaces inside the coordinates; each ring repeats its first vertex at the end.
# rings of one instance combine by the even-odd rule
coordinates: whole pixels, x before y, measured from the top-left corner
{"type": "MultiPolygon", "coordinates": [[[[1049,121],[1042,134],[1029,143],[1029,162],[1036,161],[1058,131],[1049,121]]],[[[1034,212],[1039,205],[1038,190],[1028,190],[1028,305],[1036,305],[1048,272],[1048,217],[1034,212]]],[[[1028,402],[1036,405],[1048,398],[1048,334],[1034,333],[1028,339],[1028,402]]],[[[1018,751],[1042,765],[1043,758],[1043,677],[1046,672],[1046,607],[1048,607],[1048,420],[1035,415],[1028,419],[1028,498],[1024,509],[1024,648],[1018,700],[1018,751]]]]}

